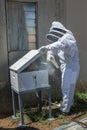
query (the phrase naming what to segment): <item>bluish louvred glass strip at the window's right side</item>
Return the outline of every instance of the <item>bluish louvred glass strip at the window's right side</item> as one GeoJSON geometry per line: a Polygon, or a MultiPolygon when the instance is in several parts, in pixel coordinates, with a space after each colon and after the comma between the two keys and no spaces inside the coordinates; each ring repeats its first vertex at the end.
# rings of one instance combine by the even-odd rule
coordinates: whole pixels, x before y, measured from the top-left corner
{"type": "Polygon", "coordinates": [[[26,29],[28,32],[29,49],[36,48],[36,4],[23,4],[25,12],[26,29]]]}

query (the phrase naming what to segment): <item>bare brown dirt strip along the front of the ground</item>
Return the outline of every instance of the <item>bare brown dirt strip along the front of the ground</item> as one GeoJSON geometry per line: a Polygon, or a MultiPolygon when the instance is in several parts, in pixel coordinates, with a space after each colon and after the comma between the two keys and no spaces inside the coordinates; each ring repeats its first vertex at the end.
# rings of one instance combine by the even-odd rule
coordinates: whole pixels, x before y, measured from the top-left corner
{"type": "MultiPolygon", "coordinates": [[[[78,114],[55,117],[54,120],[48,121],[32,121],[25,118],[26,130],[52,130],[60,125],[71,122],[72,118],[76,117],[78,114]]],[[[86,117],[87,113],[78,116],[77,119],[80,120],[83,117],[86,117]]],[[[20,130],[19,119],[13,120],[11,115],[2,115],[0,116],[0,130],[20,130]]]]}

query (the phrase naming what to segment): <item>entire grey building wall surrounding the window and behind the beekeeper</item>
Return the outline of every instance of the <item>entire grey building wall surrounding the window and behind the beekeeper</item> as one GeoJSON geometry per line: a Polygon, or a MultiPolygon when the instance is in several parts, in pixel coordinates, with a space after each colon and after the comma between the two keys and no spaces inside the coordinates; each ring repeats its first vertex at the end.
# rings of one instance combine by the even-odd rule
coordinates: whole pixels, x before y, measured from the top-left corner
{"type": "MultiPolygon", "coordinates": [[[[19,1],[23,2],[23,0],[19,1]]],[[[61,21],[64,25],[66,25],[68,29],[72,30],[77,39],[81,66],[79,79],[80,81],[82,81],[81,83],[83,83],[83,81],[86,82],[87,0],[84,0],[84,2],[82,0],[27,0],[27,2],[28,1],[38,2],[38,48],[40,46],[49,44],[45,38],[45,35],[49,31],[52,21],[61,21]]],[[[6,86],[2,88],[2,84],[5,85],[5,83],[7,83],[7,81],[9,80],[9,66],[26,53],[26,51],[14,51],[8,54],[5,2],[6,0],[0,0],[0,104],[2,105],[3,102],[3,105],[0,108],[0,112],[6,112],[12,109],[10,84],[6,84],[6,86]],[[7,106],[7,108],[5,108],[5,106],[7,106]]],[[[55,89],[58,90],[58,88],[56,87],[58,87],[60,83],[58,82],[60,78],[58,77],[59,79],[55,80],[56,77],[58,77],[57,74],[51,79],[51,83],[54,84],[54,93],[55,89]]],[[[82,84],[81,86],[83,85],[84,84],[82,84]]],[[[55,100],[56,95],[59,96],[60,93],[57,92],[58,91],[56,91],[56,93],[54,94],[55,100]]]]}

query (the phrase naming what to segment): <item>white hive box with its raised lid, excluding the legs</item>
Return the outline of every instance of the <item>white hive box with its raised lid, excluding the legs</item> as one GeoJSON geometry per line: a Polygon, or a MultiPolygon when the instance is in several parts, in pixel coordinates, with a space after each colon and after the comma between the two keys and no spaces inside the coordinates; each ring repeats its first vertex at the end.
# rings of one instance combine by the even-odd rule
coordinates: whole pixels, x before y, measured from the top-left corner
{"type": "Polygon", "coordinates": [[[23,72],[31,63],[42,54],[38,50],[32,50],[10,66],[11,88],[17,93],[35,91],[49,87],[48,70],[35,70],[23,72]]]}

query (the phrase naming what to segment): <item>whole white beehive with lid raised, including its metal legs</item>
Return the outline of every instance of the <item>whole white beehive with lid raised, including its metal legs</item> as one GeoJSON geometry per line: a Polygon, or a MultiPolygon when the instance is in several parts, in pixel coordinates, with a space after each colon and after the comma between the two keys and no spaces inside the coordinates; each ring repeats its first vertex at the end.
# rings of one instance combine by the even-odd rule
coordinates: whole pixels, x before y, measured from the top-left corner
{"type": "Polygon", "coordinates": [[[41,91],[46,89],[48,91],[49,101],[49,120],[51,116],[51,86],[48,80],[48,70],[34,70],[25,71],[34,61],[40,58],[44,53],[38,50],[31,50],[25,54],[16,63],[10,66],[10,81],[12,89],[13,101],[13,117],[16,118],[15,93],[18,95],[19,110],[20,110],[20,126],[24,127],[23,117],[23,103],[22,94],[28,92],[35,92],[39,95],[39,109],[41,110],[41,91]]]}

